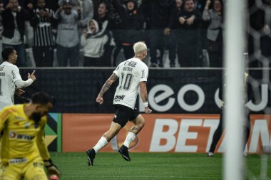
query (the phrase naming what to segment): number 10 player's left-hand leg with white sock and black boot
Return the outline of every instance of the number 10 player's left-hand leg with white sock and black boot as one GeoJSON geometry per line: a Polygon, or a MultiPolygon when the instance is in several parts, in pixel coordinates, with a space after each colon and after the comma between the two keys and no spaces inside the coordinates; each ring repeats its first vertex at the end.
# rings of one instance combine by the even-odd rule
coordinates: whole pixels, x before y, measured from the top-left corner
{"type": "Polygon", "coordinates": [[[121,130],[121,125],[119,125],[116,122],[111,122],[111,127],[109,130],[103,134],[100,140],[98,140],[97,144],[93,147],[93,149],[88,149],[86,151],[86,154],[88,155],[88,166],[93,166],[93,160],[96,156],[96,153],[102,149],[103,147],[108,144],[108,142],[111,141],[113,137],[118,134],[118,132],[121,130]]]}

